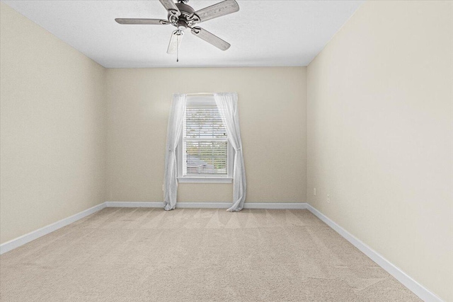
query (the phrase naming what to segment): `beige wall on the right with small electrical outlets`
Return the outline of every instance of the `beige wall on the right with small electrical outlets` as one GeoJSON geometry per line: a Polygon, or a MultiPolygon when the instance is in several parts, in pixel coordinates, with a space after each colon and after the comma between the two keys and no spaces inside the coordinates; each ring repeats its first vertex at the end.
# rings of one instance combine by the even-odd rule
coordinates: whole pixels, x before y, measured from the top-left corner
{"type": "Polygon", "coordinates": [[[365,2],[307,78],[308,202],[453,301],[453,2],[365,2]]]}

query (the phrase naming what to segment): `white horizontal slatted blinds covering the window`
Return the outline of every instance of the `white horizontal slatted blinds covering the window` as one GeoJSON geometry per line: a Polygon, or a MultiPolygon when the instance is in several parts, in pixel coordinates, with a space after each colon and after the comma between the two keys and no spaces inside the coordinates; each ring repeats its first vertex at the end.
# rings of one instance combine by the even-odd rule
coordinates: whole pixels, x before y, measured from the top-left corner
{"type": "Polygon", "coordinates": [[[228,137],[215,103],[188,103],[183,127],[183,176],[226,176],[228,137]]]}

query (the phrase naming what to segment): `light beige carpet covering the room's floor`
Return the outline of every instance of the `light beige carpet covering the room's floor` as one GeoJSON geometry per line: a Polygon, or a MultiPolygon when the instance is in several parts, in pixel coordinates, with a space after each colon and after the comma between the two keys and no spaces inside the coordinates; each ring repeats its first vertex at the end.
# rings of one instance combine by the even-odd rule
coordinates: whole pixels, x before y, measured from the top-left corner
{"type": "Polygon", "coordinates": [[[0,256],[1,301],[420,301],[306,210],[107,208],[0,256]]]}

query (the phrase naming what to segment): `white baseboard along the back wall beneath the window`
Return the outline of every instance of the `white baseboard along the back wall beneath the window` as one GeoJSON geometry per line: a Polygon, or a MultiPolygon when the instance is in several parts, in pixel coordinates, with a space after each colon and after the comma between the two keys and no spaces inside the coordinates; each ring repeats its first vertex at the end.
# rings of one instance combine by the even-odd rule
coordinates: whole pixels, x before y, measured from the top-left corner
{"type": "MultiPolygon", "coordinates": [[[[163,202],[105,202],[106,207],[125,208],[160,208],[163,202]]],[[[176,209],[228,209],[231,202],[178,202],[176,209]]],[[[244,209],[306,209],[307,204],[301,202],[246,202],[244,209]]]]}

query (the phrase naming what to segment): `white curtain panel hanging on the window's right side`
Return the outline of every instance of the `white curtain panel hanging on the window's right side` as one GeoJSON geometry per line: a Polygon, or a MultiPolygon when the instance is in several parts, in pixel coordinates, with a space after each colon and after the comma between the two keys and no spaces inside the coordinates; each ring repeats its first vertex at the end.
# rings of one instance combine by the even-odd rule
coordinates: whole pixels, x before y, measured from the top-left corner
{"type": "Polygon", "coordinates": [[[226,134],[234,148],[233,206],[228,211],[241,211],[246,201],[246,170],[243,165],[241,129],[239,128],[237,93],[214,93],[215,103],[226,127],[226,134]]]}

